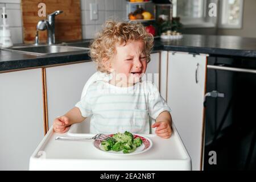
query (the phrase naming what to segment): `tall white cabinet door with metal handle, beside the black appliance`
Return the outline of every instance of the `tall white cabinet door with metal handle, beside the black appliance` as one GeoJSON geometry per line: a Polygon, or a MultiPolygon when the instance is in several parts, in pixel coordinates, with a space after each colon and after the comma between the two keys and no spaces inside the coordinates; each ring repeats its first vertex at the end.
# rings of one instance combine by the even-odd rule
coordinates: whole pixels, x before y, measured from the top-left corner
{"type": "Polygon", "coordinates": [[[201,169],[206,65],[204,55],[168,53],[167,102],[193,170],[201,169]]]}

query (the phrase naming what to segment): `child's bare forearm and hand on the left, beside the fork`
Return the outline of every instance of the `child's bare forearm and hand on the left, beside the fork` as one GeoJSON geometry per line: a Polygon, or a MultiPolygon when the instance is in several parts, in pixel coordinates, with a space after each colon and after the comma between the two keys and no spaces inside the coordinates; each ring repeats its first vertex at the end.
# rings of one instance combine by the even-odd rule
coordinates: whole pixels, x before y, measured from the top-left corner
{"type": "Polygon", "coordinates": [[[79,108],[74,107],[69,110],[68,113],[54,119],[53,130],[57,133],[66,133],[71,125],[80,123],[84,121],[84,119],[85,117],[82,117],[79,108]]]}

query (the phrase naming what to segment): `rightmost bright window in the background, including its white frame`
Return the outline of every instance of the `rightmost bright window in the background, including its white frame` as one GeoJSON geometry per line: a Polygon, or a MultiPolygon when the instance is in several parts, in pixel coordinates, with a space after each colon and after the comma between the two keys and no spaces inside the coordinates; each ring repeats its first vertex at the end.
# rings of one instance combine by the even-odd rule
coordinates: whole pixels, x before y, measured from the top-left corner
{"type": "Polygon", "coordinates": [[[243,0],[221,2],[220,28],[242,28],[243,0]]]}

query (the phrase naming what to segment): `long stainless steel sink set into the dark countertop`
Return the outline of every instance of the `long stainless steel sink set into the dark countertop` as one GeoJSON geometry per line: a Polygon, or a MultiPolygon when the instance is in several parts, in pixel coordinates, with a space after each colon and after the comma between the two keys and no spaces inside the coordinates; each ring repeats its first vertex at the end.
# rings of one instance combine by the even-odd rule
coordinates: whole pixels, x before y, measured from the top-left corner
{"type": "Polygon", "coordinates": [[[55,53],[67,53],[67,52],[84,52],[89,48],[86,47],[73,47],[73,46],[59,46],[59,45],[44,45],[44,46],[19,46],[11,48],[2,48],[9,51],[28,53],[35,55],[49,55],[55,53]]]}

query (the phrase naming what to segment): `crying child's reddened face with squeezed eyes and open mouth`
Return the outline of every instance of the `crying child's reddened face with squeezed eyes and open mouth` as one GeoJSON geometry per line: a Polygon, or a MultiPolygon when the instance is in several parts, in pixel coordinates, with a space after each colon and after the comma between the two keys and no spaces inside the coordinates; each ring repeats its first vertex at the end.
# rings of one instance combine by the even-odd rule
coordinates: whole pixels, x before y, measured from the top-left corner
{"type": "Polygon", "coordinates": [[[115,80],[122,78],[123,84],[127,86],[138,82],[147,68],[144,42],[135,40],[127,42],[125,46],[117,44],[115,50],[116,54],[111,60],[111,72],[115,80]]]}

